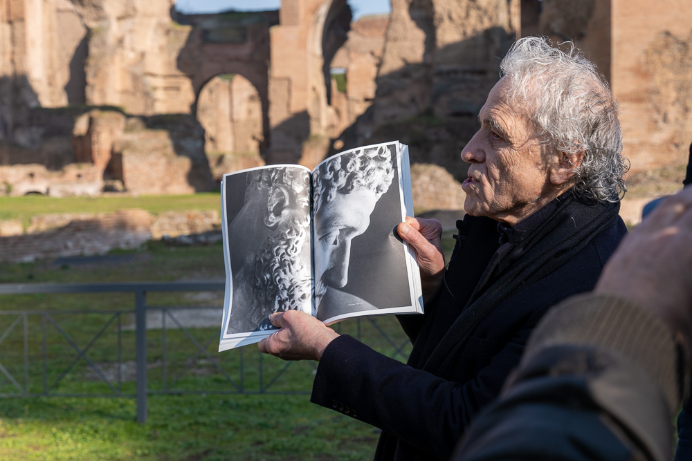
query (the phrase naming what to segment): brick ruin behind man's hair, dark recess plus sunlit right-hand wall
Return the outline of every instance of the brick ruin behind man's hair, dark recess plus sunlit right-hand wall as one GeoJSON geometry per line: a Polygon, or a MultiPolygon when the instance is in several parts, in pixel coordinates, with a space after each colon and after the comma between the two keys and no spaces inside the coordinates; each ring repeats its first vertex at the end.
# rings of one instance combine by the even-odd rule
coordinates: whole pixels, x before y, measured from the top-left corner
{"type": "Polygon", "coordinates": [[[522,35],[570,39],[597,63],[620,102],[630,173],[685,164],[692,143],[692,2],[540,3],[522,0],[522,35]]]}

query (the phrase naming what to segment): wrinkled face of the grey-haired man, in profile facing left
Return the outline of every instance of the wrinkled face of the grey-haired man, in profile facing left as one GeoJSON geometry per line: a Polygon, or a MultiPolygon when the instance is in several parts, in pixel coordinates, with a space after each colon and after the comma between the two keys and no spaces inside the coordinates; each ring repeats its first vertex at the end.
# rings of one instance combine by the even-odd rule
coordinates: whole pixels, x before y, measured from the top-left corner
{"type": "Polygon", "coordinates": [[[479,113],[480,130],[462,151],[471,163],[462,188],[468,214],[515,225],[545,205],[540,199],[552,186],[526,109],[507,104],[506,86],[505,79],[495,84],[479,113]]]}

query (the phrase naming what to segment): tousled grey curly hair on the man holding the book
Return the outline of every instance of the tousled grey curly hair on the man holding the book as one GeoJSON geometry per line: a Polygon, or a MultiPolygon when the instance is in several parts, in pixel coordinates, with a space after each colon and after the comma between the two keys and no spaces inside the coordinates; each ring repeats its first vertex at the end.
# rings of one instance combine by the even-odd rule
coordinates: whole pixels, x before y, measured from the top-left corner
{"type": "Polygon", "coordinates": [[[572,42],[554,48],[545,37],[516,41],[500,63],[507,99],[526,107],[541,144],[580,153],[571,188],[576,198],[618,202],[626,191],[618,104],[596,64],[572,42]]]}

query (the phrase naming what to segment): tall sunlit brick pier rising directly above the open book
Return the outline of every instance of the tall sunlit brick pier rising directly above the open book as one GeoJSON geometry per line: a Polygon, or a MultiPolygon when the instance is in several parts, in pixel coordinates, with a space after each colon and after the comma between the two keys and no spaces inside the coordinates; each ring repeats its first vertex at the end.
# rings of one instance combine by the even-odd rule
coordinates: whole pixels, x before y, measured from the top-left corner
{"type": "Polygon", "coordinates": [[[283,0],[280,18],[271,32],[267,158],[314,167],[336,132],[338,115],[329,106],[327,88],[329,63],[346,40],[351,12],[346,0],[283,0]]]}

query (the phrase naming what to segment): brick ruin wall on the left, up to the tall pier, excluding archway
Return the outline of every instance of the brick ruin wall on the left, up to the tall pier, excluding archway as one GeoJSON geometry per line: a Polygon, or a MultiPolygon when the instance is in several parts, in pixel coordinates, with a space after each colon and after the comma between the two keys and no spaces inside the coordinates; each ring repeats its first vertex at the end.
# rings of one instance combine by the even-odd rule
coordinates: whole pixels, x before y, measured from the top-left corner
{"type": "MultiPolygon", "coordinates": [[[[174,22],[173,6],[174,0],[0,0],[0,194],[189,194],[214,187],[204,130],[181,118],[194,120],[196,97],[215,75],[259,75],[252,84],[262,88],[264,79],[266,88],[268,25],[278,15],[255,15],[260,21],[243,27],[234,21],[246,17],[228,15],[185,17],[183,24],[174,22]],[[86,116],[89,107],[99,113],[86,116]],[[149,126],[152,117],[158,126],[149,126]],[[144,122],[122,126],[136,118],[144,122]],[[152,172],[163,182],[152,181],[152,172]]],[[[260,115],[261,131],[264,123],[260,115]]]]}

